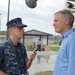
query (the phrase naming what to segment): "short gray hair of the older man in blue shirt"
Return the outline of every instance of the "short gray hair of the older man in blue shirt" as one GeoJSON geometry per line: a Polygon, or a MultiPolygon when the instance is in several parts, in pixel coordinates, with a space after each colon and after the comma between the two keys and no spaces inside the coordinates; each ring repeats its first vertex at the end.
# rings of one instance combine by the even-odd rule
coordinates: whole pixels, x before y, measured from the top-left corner
{"type": "Polygon", "coordinates": [[[61,14],[64,19],[69,18],[70,19],[69,23],[71,26],[73,26],[74,15],[72,14],[72,12],[70,10],[67,10],[67,9],[60,10],[60,11],[56,12],[55,14],[61,14]]]}

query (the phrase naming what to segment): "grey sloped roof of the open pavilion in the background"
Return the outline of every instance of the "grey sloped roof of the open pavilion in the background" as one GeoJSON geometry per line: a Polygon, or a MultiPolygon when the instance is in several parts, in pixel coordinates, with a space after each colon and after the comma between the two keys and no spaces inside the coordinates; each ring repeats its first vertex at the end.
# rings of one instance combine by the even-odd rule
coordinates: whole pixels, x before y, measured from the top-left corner
{"type": "Polygon", "coordinates": [[[34,36],[40,36],[40,35],[41,36],[53,36],[53,34],[42,32],[42,31],[38,31],[38,30],[35,30],[35,29],[26,31],[24,34],[25,35],[34,35],[34,36]]]}

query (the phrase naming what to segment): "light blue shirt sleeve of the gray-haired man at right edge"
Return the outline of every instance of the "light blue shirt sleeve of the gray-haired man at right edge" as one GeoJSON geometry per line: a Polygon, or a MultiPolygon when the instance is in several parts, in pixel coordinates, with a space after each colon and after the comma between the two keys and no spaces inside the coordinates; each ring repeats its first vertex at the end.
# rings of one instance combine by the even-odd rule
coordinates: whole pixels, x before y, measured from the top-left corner
{"type": "Polygon", "coordinates": [[[69,46],[68,75],[75,75],[75,40],[69,46]]]}

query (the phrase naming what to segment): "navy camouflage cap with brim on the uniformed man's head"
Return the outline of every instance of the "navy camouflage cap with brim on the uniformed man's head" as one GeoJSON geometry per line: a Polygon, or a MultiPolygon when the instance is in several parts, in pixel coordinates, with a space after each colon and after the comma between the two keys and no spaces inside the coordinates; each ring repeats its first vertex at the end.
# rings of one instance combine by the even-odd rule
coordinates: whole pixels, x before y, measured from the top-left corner
{"type": "Polygon", "coordinates": [[[6,25],[8,28],[10,28],[10,27],[27,27],[27,25],[24,25],[22,23],[21,18],[12,19],[12,20],[8,21],[6,25]]]}

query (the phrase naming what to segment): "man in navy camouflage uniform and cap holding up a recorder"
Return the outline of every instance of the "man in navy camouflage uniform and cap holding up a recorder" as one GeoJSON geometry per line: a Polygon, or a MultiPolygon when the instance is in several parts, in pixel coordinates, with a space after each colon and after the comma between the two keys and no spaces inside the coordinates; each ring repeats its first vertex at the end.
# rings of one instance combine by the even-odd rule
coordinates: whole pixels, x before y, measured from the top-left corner
{"type": "Polygon", "coordinates": [[[0,75],[28,75],[27,70],[36,56],[36,51],[27,57],[26,49],[19,39],[23,37],[24,27],[21,18],[7,22],[10,40],[0,47],[0,75]]]}

